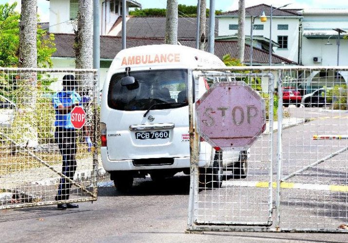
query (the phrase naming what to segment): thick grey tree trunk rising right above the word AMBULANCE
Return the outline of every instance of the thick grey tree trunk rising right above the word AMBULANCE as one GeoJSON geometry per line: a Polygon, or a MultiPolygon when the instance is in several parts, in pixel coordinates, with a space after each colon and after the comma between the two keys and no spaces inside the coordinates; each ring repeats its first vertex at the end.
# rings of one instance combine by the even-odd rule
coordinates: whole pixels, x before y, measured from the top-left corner
{"type": "Polygon", "coordinates": [[[165,44],[178,44],[178,0],[167,0],[165,44]]]}

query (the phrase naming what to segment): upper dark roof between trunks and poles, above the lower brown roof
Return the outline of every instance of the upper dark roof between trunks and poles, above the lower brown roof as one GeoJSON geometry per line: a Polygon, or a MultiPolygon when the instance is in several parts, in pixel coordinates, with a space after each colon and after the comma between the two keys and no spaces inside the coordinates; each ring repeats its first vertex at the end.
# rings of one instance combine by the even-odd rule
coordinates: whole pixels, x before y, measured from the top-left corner
{"type": "MultiPolygon", "coordinates": [[[[120,26],[122,26],[122,21],[116,20],[109,32],[109,35],[121,36],[122,31],[120,26]]],[[[206,33],[208,33],[208,30],[209,18],[207,17],[206,33]]],[[[218,21],[215,21],[215,30],[218,30],[218,21]]],[[[178,17],[178,39],[196,38],[196,31],[197,17],[178,17]]],[[[165,17],[129,16],[129,19],[127,20],[127,37],[163,38],[164,36],[165,17]]]]}

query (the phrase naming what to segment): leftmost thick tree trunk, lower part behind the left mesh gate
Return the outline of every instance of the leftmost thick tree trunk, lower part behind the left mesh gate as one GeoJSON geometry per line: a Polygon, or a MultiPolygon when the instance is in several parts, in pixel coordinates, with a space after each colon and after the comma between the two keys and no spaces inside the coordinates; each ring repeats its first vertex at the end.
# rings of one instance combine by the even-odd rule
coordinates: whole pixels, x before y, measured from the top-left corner
{"type": "MultiPolygon", "coordinates": [[[[37,0],[22,0],[19,22],[18,67],[37,68],[37,0]]],[[[21,145],[34,148],[38,144],[36,118],[37,73],[21,71],[17,75],[18,116],[13,122],[14,139],[21,145]],[[20,114],[20,115],[19,115],[20,114]]],[[[13,150],[13,152],[15,149],[13,150]]]]}

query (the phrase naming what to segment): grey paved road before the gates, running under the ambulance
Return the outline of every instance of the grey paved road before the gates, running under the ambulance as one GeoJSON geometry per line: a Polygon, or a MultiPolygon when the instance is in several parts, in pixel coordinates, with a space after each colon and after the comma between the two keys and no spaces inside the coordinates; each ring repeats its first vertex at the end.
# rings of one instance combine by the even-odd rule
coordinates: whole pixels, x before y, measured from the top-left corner
{"type": "Polygon", "coordinates": [[[175,176],[162,184],[150,179],[136,182],[128,195],[118,194],[114,187],[99,188],[98,201],[80,204],[78,209],[58,211],[55,206],[46,206],[2,210],[1,242],[347,242],[347,234],[187,234],[189,176],[175,176]]]}

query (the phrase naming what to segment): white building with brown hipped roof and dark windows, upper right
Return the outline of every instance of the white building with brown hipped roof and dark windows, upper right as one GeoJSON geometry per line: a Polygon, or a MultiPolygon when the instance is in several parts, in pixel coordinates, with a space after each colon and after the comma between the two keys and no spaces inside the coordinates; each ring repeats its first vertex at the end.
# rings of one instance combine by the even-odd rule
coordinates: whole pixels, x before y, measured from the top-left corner
{"type": "MultiPolygon", "coordinates": [[[[272,41],[279,44],[274,47],[275,54],[299,62],[299,36],[302,16],[300,9],[276,9],[273,7],[272,17],[272,41]]],[[[270,38],[270,19],[271,6],[259,4],[245,9],[245,35],[250,38],[251,19],[254,18],[253,36],[264,36],[270,38]],[[268,16],[267,22],[261,22],[258,16],[265,13],[268,16]],[[247,36],[248,35],[248,36],[247,36]]],[[[238,33],[238,10],[222,13],[217,16],[219,19],[219,36],[237,35],[238,33]]],[[[246,43],[250,39],[246,39],[246,43]]],[[[254,46],[259,43],[254,42],[254,46]]]]}

